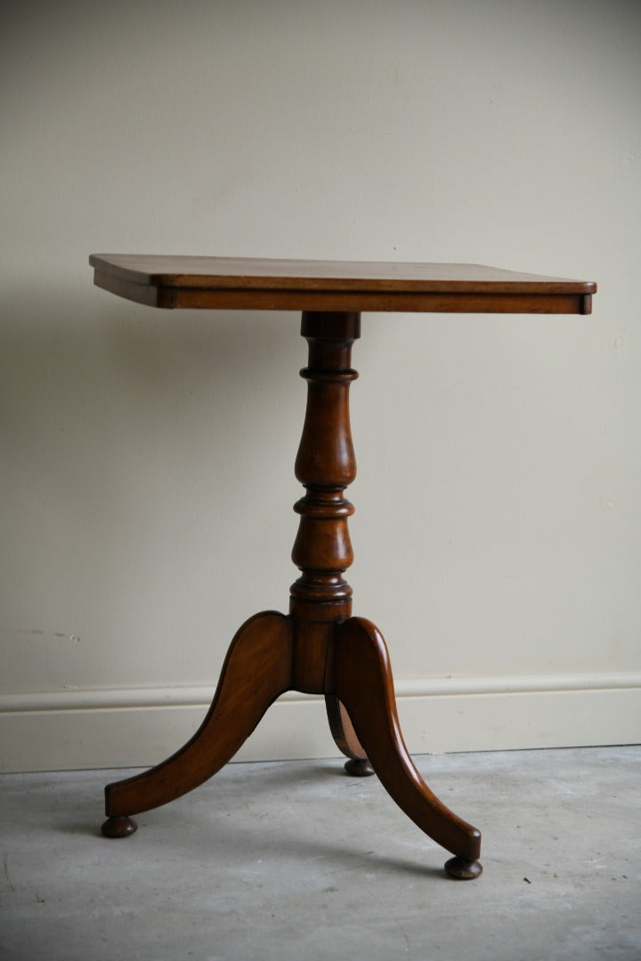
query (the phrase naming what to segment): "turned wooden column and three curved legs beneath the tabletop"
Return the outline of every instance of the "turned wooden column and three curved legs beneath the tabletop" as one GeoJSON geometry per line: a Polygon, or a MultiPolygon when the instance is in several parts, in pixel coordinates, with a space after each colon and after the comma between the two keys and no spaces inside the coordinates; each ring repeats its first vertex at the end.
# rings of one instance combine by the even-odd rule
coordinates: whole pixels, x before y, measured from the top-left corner
{"type": "Polygon", "coordinates": [[[288,615],[266,611],[240,628],[225,658],[210,711],[185,744],[157,767],[105,789],[103,833],[127,837],[131,816],[174,801],[234,757],[269,705],[285,691],[325,695],[333,738],[348,757],[348,774],[376,773],[414,824],[455,855],[458,878],[477,877],[481,834],[431,793],[414,767],[396,713],[394,683],[382,634],[352,617],[352,588],[343,579],[354,556],[343,496],[356,477],[349,418],[350,366],[360,333],[354,312],[303,313],[309,363],[308,406],[296,457],[306,488],[292,560],[301,577],[290,589],[288,615]]]}

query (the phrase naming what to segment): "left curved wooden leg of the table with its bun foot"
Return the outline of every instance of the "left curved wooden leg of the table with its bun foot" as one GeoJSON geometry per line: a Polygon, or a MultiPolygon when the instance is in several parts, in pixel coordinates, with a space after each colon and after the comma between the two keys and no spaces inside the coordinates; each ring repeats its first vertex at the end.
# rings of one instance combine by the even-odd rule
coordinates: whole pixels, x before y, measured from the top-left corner
{"type": "Polygon", "coordinates": [[[207,717],[180,751],[149,771],[105,788],[108,837],[136,830],[128,816],[174,801],[227,764],[269,705],[289,688],[291,622],[267,611],[237,631],[207,717]]]}

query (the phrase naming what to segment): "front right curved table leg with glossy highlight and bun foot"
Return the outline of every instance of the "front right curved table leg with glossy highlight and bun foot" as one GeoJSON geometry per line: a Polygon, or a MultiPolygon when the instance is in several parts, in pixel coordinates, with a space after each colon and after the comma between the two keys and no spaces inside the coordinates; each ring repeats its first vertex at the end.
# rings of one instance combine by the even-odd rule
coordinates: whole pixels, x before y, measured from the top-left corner
{"type": "Polygon", "coordinates": [[[446,864],[457,878],[481,874],[481,833],[431,793],[414,767],[396,713],[394,684],[381,632],[350,618],[335,632],[333,693],[344,703],[374,771],[414,824],[456,856],[446,864]]]}

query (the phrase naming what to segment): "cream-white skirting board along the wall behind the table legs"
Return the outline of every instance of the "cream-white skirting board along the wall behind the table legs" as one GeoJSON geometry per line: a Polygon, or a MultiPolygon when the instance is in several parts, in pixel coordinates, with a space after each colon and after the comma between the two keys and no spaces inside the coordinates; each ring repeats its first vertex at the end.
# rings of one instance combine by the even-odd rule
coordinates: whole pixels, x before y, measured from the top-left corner
{"type": "MultiPolygon", "coordinates": [[[[180,748],[213,688],[64,690],[0,695],[0,771],[147,767],[180,748]]],[[[401,680],[412,753],[641,743],[641,673],[401,680]]],[[[322,698],[273,704],[238,761],[339,756],[322,698]]]]}

